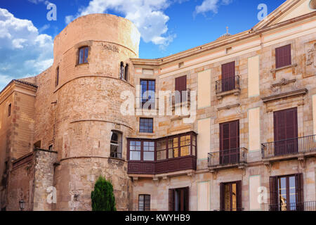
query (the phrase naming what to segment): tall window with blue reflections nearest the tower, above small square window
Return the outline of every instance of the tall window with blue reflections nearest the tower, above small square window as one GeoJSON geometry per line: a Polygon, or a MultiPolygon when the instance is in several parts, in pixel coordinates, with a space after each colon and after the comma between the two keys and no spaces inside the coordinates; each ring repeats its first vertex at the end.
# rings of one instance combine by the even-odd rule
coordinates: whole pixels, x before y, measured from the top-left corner
{"type": "Polygon", "coordinates": [[[154,108],[155,81],[150,79],[140,80],[140,99],[142,107],[147,103],[148,109],[154,108]]]}

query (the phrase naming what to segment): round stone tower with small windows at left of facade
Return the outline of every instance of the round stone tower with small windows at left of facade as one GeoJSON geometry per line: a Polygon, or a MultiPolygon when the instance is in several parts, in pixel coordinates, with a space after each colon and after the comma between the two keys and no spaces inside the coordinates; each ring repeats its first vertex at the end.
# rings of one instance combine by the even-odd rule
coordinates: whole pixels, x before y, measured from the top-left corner
{"type": "Polygon", "coordinates": [[[135,119],[121,115],[120,96],[135,94],[129,58],[138,58],[139,41],[131,21],[108,14],[77,18],[55,37],[53,210],[91,210],[100,175],[112,181],[117,210],[129,210],[126,137],[135,119]]]}

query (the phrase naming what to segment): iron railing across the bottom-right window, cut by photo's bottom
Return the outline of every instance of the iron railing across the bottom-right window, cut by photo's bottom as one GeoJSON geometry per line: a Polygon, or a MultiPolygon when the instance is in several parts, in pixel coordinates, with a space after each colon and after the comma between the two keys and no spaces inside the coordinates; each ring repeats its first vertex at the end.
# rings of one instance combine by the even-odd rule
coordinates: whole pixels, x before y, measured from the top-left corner
{"type": "Polygon", "coordinates": [[[269,205],[270,211],[316,211],[316,202],[269,205]]]}

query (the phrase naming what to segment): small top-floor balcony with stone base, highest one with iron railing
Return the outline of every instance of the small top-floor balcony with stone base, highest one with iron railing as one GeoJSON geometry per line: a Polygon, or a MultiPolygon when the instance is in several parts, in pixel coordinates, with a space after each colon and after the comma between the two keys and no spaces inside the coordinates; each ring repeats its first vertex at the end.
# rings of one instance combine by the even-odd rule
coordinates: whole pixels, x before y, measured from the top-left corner
{"type": "Polygon", "coordinates": [[[216,97],[218,99],[230,94],[234,94],[235,96],[240,94],[239,76],[216,81],[216,97]]]}

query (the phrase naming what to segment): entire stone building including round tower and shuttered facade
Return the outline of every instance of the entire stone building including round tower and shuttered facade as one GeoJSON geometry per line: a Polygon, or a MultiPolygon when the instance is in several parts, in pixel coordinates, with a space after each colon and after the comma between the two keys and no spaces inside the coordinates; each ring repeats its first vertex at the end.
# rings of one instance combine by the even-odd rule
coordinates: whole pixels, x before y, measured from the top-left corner
{"type": "Polygon", "coordinates": [[[138,58],[139,41],[86,15],[51,68],[1,91],[2,210],[91,210],[100,175],[117,210],[316,210],[310,1],[165,58],[138,58]]]}

